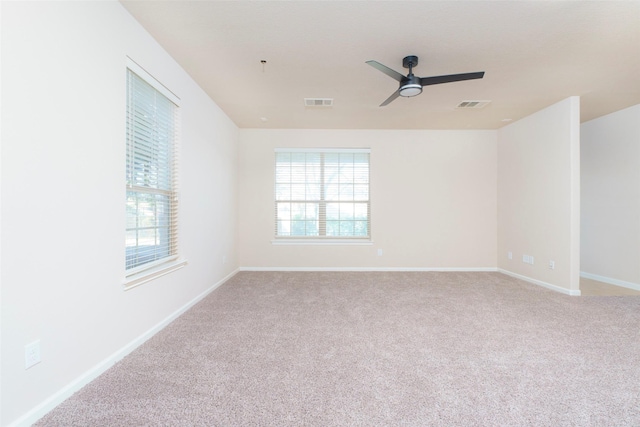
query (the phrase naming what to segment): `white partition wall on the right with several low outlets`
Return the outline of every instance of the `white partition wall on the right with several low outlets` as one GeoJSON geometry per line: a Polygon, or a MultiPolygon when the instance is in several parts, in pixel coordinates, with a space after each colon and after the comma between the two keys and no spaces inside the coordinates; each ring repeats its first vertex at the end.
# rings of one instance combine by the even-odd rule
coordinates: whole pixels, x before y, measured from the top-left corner
{"type": "Polygon", "coordinates": [[[570,294],[580,281],[579,120],[571,97],[498,131],[498,267],[570,294]]]}

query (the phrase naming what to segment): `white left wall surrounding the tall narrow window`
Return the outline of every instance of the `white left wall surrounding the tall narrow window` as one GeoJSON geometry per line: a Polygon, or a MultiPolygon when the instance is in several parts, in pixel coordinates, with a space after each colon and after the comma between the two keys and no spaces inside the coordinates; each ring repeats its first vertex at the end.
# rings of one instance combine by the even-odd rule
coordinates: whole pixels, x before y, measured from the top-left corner
{"type": "Polygon", "coordinates": [[[0,424],[8,425],[28,422],[236,269],[238,131],[118,2],[1,7],[0,424]],[[182,99],[180,242],[189,262],[128,291],[126,55],[182,99]],[[42,362],[25,370],[24,346],[37,339],[42,362]]]}

